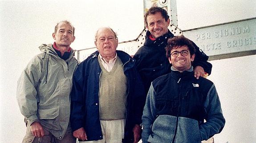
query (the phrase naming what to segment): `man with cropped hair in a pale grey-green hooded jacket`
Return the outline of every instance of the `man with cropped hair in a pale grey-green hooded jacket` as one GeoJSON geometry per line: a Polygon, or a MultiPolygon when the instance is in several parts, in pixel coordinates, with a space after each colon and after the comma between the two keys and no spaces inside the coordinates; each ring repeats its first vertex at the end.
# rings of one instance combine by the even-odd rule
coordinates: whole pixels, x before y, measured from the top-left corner
{"type": "Polygon", "coordinates": [[[55,26],[53,44],[42,44],[18,80],[17,100],[27,132],[22,143],[76,143],[69,124],[73,72],[78,66],[75,28],[68,21],[55,26]]]}

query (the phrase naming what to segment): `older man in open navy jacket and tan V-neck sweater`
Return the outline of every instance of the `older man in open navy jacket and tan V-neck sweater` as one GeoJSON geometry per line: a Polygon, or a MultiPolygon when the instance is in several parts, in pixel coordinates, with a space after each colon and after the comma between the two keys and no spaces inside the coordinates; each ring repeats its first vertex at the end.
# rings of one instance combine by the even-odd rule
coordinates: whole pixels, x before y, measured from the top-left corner
{"type": "Polygon", "coordinates": [[[71,93],[74,137],[92,143],[137,143],[145,100],[135,60],[116,50],[115,32],[104,27],[95,35],[98,51],[78,66],[71,93]]]}

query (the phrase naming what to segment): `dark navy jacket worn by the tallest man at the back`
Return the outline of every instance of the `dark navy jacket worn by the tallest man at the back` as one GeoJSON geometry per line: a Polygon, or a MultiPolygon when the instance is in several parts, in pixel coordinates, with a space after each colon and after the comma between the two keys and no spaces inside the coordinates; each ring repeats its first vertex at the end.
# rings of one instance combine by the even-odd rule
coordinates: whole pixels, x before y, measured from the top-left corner
{"type": "MultiPolygon", "coordinates": [[[[166,57],[165,47],[167,46],[167,40],[174,37],[171,31],[154,41],[149,38],[149,35],[151,34],[147,31],[144,46],[140,47],[133,57],[136,59],[136,68],[142,78],[146,93],[154,79],[171,72],[171,64],[166,57]]],[[[212,65],[207,62],[208,56],[199,50],[195,43],[193,44],[196,53],[192,66],[202,66],[203,70],[210,75],[212,65]]]]}

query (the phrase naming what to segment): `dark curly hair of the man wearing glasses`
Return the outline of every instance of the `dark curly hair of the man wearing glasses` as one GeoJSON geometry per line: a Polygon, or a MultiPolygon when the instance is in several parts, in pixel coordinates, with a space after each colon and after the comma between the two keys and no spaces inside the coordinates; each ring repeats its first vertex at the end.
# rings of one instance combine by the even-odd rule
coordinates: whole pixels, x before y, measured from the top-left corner
{"type": "Polygon", "coordinates": [[[195,46],[193,45],[192,41],[190,39],[187,39],[183,35],[175,36],[173,38],[168,39],[168,45],[166,46],[166,57],[171,57],[171,50],[176,49],[179,46],[187,46],[188,50],[190,52],[190,56],[195,54],[195,46]]]}

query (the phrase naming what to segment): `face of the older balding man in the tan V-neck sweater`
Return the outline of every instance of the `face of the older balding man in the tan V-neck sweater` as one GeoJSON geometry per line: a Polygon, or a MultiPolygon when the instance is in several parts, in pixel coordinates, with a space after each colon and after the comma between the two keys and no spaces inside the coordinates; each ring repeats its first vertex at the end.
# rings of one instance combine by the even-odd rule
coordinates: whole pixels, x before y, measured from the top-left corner
{"type": "Polygon", "coordinates": [[[110,28],[101,28],[96,34],[95,46],[103,58],[114,58],[118,46],[118,39],[110,28]]]}

